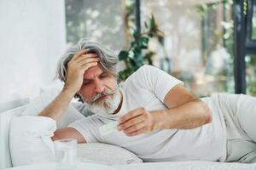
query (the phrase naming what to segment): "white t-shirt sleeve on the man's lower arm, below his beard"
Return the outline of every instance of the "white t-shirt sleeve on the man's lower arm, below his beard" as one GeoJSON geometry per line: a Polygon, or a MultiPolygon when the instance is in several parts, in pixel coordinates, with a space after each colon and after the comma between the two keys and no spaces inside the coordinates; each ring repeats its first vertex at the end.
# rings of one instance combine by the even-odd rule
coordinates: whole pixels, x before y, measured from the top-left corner
{"type": "Polygon", "coordinates": [[[73,127],[84,136],[87,143],[102,142],[99,133],[99,127],[103,124],[96,116],[88,116],[69,124],[67,127],[73,127]]]}

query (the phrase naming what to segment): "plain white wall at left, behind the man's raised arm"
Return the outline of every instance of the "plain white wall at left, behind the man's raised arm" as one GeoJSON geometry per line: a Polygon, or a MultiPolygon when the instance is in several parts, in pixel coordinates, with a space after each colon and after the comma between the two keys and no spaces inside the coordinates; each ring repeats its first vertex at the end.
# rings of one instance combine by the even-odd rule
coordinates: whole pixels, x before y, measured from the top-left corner
{"type": "Polygon", "coordinates": [[[52,82],[65,44],[64,0],[0,0],[0,111],[52,82]]]}

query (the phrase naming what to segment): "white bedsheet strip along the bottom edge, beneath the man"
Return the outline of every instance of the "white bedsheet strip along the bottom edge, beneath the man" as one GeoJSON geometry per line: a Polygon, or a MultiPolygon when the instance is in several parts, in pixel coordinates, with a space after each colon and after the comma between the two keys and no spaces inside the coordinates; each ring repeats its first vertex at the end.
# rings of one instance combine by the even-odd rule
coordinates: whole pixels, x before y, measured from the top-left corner
{"type": "MultiPolygon", "coordinates": [[[[214,161],[170,161],[154,163],[138,163],[131,165],[106,166],[95,163],[78,162],[77,170],[102,169],[102,170],[255,170],[256,164],[221,163],[214,161]]],[[[6,170],[55,170],[54,163],[37,164],[30,166],[13,167],[6,170]]]]}

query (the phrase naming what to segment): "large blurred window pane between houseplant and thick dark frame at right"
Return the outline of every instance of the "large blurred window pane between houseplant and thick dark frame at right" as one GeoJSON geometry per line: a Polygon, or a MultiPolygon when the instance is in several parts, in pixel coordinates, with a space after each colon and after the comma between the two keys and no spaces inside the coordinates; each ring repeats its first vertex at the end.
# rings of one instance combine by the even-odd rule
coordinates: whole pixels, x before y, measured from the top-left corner
{"type": "MultiPolygon", "coordinates": [[[[167,57],[170,74],[197,96],[234,93],[232,4],[142,1],[142,20],[151,13],[165,33],[165,47],[152,42],[154,65],[167,57]]],[[[166,61],[165,61],[166,67],[166,61]]]]}

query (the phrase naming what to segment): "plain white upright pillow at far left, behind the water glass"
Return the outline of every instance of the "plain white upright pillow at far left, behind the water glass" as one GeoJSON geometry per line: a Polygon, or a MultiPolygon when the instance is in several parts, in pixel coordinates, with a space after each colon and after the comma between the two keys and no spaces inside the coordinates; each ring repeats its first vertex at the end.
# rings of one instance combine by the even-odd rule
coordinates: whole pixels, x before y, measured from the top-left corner
{"type": "Polygon", "coordinates": [[[16,116],[9,127],[9,150],[13,166],[55,161],[55,121],[45,116],[16,116]]]}

